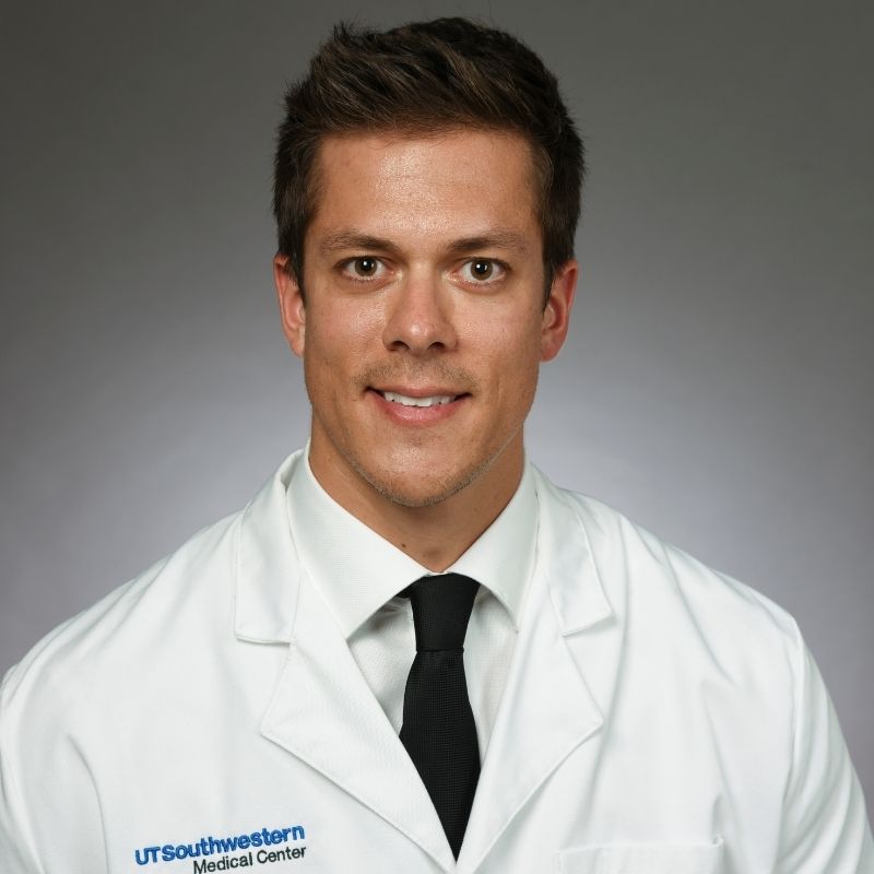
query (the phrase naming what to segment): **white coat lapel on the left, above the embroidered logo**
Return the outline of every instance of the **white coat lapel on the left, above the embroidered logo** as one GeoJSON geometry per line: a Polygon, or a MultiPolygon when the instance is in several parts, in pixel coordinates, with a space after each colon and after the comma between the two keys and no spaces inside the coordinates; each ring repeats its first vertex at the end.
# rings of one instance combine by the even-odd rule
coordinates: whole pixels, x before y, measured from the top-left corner
{"type": "Polygon", "coordinates": [[[261,733],[451,871],[452,852],[415,766],[327,605],[300,572],[285,497],[300,459],[297,452],[285,461],[237,530],[236,636],[288,648],[261,733]]]}

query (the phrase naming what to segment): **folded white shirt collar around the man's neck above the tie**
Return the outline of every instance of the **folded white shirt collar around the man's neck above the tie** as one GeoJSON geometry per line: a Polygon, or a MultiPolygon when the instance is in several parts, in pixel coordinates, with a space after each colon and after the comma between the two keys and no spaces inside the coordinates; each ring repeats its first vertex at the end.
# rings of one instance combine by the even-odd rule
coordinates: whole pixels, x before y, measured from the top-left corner
{"type": "MultiPolygon", "coordinates": [[[[307,576],[316,583],[344,637],[411,582],[433,571],[423,567],[341,507],[309,466],[309,447],[287,489],[292,539],[307,576]]],[[[538,496],[525,462],[516,494],[495,521],[448,571],[477,580],[519,627],[538,534],[538,496]]]]}

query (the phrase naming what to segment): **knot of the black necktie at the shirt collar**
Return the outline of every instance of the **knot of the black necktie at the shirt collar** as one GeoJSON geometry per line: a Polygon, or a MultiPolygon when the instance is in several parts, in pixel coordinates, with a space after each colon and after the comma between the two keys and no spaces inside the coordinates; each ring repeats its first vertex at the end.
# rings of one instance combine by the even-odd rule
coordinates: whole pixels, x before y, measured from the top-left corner
{"type": "Polygon", "coordinates": [[[404,589],[413,606],[416,652],[460,650],[480,583],[461,574],[422,577],[404,589]]]}

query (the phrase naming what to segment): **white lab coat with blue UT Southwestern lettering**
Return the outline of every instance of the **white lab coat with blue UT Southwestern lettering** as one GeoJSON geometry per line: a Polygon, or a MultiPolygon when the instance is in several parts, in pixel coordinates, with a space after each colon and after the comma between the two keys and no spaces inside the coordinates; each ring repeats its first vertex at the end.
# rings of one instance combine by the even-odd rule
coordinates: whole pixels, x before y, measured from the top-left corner
{"type": "Polygon", "coordinates": [[[456,863],[298,568],[297,459],[8,674],[2,874],[874,872],[791,617],[541,475],[535,572],[456,863]]]}

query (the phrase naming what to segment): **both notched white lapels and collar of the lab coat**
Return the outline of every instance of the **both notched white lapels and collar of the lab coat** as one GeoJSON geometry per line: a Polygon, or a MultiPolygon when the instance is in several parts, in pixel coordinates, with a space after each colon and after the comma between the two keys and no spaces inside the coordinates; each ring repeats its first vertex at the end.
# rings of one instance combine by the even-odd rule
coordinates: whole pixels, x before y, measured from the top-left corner
{"type": "Polygon", "coordinates": [[[237,636],[291,642],[261,732],[406,835],[442,871],[472,872],[538,788],[603,723],[571,640],[612,616],[579,508],[535,474],[534,578],[456,863],[415,767],[327,605],[298,572],[285,500],[298,459],[280,468],[239,524],[237,636]]]}

